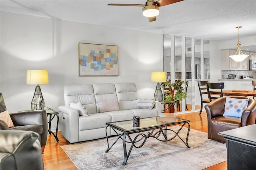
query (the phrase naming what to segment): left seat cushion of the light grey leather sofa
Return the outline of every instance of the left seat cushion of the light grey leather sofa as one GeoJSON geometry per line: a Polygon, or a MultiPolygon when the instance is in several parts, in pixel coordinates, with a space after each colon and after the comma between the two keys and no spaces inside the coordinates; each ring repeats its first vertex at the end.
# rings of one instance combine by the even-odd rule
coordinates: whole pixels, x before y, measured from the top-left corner
{"type": "Polygon", "coordinates": [[[106,113],[92,113],[88,117],[80,116],[79,130],[90,130],[106,127],[107,122],[111,122],[111,116],[106,113]]]}

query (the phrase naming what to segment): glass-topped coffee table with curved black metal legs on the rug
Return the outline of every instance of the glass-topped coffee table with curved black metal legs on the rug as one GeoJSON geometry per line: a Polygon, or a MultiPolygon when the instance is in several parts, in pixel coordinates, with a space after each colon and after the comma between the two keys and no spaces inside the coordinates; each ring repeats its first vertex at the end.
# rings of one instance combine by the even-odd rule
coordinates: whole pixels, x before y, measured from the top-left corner
{"type": "Polygon", "coordinates": [[[111,146],[109,146],[109,142],[108,142],[108,148],[105,152],[108,152],[119,139],[122,139],[123,148],[124,148],[123,165],[125,165],[130,156],[132,148],[133,147],[135,147],[135,148],[142,147],[145,144],[147,138],[149,138],[149,137],[156,138],[157,140],[160,140],[162,142],[167,142],[167,141],[174,139],[176,136],[178,136],[180,138],[180,140],[182,140],[182,142],[188,148],[190,148],[190,146],[188,145],[188,135],[189,135],[189,131],[190,131],[189,122],[190,122],[189,120],[180,119],[180,118],[176,118],[176,121],[173,121],[173,122],[161,122],[160,117],[150,117],[150,118],[140,119],[140,127],[133,127],[132,120],[106,123],[106,125],[107,125],[107,127],[106,127],[107,142],[108,142],[108,135],[107,135],[108,127],[111,127],[116,132],[116,134],[118,135],[118,138],[115,140],[115,142],[111,146]],[[181,124],[181,127],[177,132],[172,130],[171,129],[172,127],[170,127],[171,125],[179,125],[179,124],[181,124]],[[187,132],[187,136],[186,136],[186,141],[184,141],[178,135],[178,133],[186,124],[188,125],[188,132],[187,132]],[[118,134],[117,130],[121,131],[122,133],[118,134]],[[144,132],[148,131],[148,130],[151,130],[151,132],[144,134],[144,132]],[[169,137],[167,135],[168,130],[174,132],[173,133],[174,135],[169,137]],[[134,137],[134,139],[132,139],[132,137],[130,136],[130,134],[132,134],[132,133],[138,133],[134,137]],[[128,136],[127,140],[126,140],[126,136],[128,136]],[[131,144],[128,153],[126,150],[126,142],[131,144]],[[139,146],[136,146],[137,142],[140,142],[139,146]]]}

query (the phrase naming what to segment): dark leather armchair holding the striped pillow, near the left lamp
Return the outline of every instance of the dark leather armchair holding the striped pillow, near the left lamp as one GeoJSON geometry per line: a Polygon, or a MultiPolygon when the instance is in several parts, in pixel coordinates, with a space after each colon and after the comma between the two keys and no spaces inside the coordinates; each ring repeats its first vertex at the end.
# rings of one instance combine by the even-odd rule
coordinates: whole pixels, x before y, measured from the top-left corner
{"type": "MultiPolygon", "coordinates": [[[[0,93],[0,112],[6,111],[6,105],[4,103],[4,97],[0,93]]],[[[45,110],[27,111],[20,113],[10,113],[10,117],[14,124],[14,127],[9,128],[4,121],[1,120],[0,129],[2,130],[31,130],[39,134],[39,141],[44,153],[44,147],[47,141],[48,133],[48,120],[45,110]]]]}

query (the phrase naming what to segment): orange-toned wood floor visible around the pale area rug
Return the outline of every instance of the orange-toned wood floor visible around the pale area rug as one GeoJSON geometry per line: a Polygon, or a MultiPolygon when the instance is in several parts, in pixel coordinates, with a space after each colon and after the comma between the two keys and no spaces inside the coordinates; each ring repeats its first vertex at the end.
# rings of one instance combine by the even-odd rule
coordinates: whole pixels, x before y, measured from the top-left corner
{"type": "MultiPolygon", "coordinates": [[[[178,118],[190,120],[190,128],[207,132],[207,116],[203,111],[201,115],[199,112],[187,113],[182,115],[176,115],[178,118]]],[[[68,158],[65,152],[60,146],[70,144],[61,134],[58,132],[59,142],[56,142],[54,136],[48,134],[47,144],[44,149],[43,160],[45,170],[77,170],[76,166],[68,158]]],[[[208,167],[204,170],[226,170],[227,162],[222,162],[214,166],[208,167]]]]}

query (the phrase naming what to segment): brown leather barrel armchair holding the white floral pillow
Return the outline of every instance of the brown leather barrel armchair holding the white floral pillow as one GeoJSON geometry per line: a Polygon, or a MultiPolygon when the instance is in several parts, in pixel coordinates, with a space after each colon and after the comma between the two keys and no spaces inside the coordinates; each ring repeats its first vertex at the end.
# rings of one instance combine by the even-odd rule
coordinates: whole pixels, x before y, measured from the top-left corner
{"type": "Polygon", "coordinates": [[[224,136],[219,136],[218,132],[256,123],[256,100],[242,96],[232,96],[232,98],[249,99],[248,107],[243,111],[241,118],[223,116],[226,97],[221,97],[205,105],[208,119],[208,139],[226,142],[224,136]]]}

